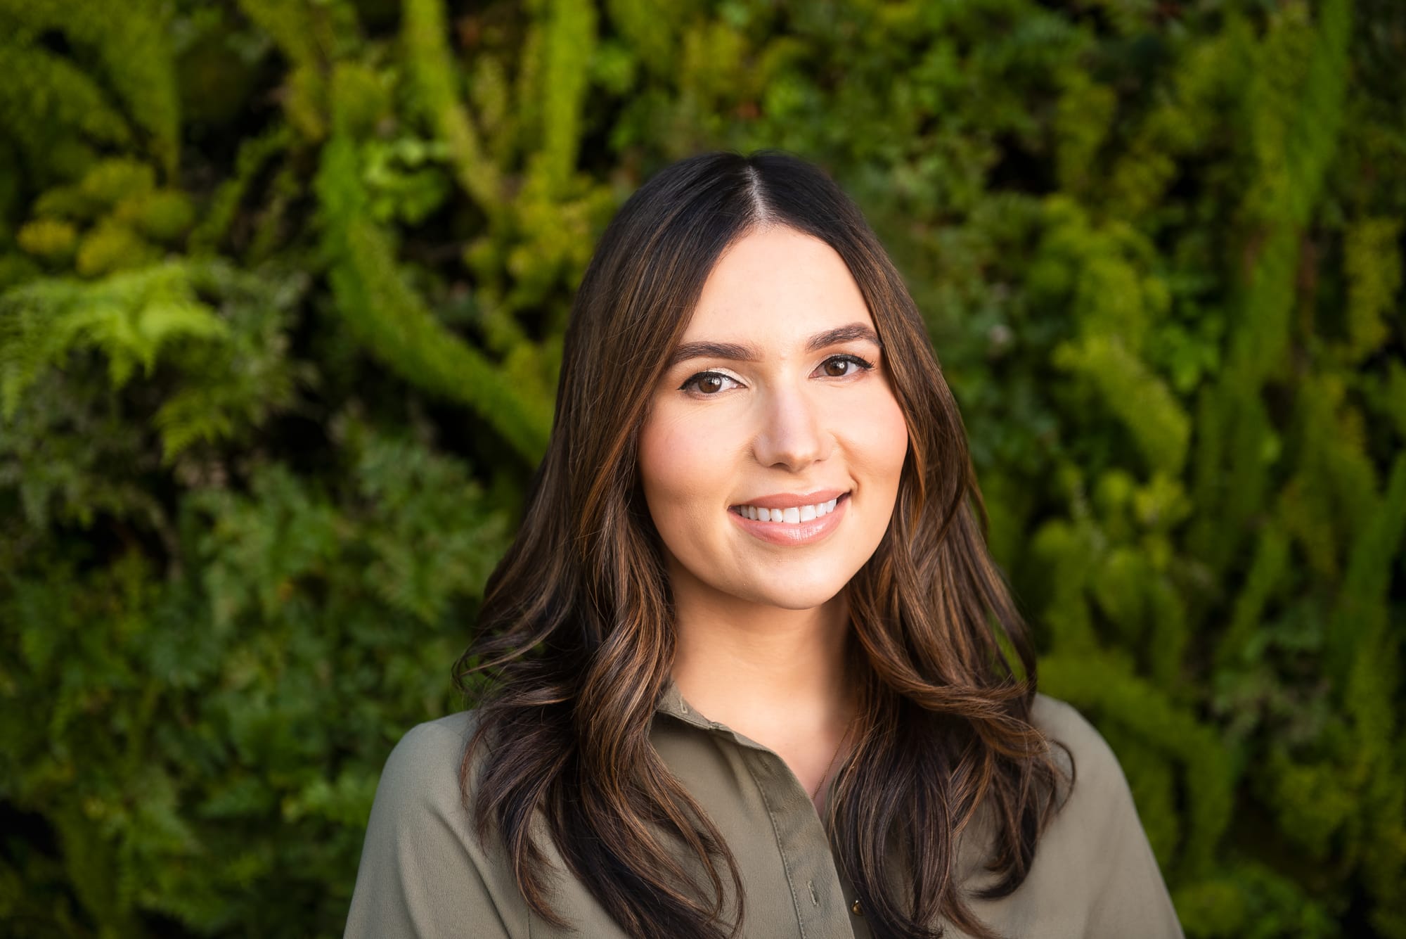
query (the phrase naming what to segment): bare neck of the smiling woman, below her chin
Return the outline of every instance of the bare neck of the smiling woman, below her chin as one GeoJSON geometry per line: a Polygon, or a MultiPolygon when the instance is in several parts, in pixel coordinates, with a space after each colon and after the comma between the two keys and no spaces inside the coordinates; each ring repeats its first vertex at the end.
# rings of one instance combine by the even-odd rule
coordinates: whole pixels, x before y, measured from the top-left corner
{"type": "Polygon", "coordinates": [[[828,731],[849,720],[844,595],[783,610],[675,581],[673,599],[673,680],[699,713],[749,737],[780,723],[794,732],[796,721],[828,731]]]}

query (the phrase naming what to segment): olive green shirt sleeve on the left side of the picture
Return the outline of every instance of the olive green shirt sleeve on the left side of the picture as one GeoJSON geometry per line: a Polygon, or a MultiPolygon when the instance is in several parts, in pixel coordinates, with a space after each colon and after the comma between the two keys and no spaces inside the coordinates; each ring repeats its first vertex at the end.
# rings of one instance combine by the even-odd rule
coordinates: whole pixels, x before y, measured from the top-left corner
{"type": "Polygon", "coordinates": [[[460,803],[464,734],[420,724],[391,751],[375,789],[346,939],[510,939],[460,803]]]}

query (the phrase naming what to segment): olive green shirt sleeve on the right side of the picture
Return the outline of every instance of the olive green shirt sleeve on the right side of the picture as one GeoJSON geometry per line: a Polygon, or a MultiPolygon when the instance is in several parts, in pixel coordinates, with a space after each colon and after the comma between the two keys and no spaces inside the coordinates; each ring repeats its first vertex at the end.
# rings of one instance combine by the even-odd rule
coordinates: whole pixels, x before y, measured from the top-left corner
{"type": "Polygon", "coordinates": [[[1085,939],[1182,939],[1171,895],[1112,748],[1069,704],[1053,699],[1043,704],[1050,724],[1046,732],[1074,756],[1074,789],[1049,835],[1084,842],[1077,853],[1085,867],[1067,876],[1078,879],[1078,893],[1088,898],[1085,939]]]}

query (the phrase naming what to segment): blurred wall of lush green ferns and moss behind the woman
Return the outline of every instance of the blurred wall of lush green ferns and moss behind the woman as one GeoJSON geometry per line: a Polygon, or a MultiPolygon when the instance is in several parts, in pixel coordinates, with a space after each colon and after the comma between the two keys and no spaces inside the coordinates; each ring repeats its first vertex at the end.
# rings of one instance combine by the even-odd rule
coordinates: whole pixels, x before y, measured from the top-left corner
{"type": "Polygon", "coordinates": [[[0,0],[0,933],[337,936],[612,214],[862,205],[1187,933],[1406,938],[1406,4],[0,0]]]}

